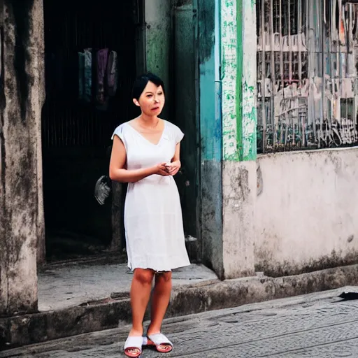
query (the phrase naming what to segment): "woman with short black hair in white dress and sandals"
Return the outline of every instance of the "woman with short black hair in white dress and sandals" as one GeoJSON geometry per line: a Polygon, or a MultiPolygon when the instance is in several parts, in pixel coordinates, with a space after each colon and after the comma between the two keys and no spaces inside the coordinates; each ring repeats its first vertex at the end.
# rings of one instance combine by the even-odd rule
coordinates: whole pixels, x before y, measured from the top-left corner
{"type": "Polygon", "coordinates": [[[171,270],[189,265],[185,249],[178,188],[173,176],[180,169],[178,127],[158,117],[165,96],[163,81],[152,73],[136,79],[134,104],[141,115],[121,124],[113,134],[110,178],[128,182],[124,207],[128,266],[131,283],[132,328],[124,354],[139,357],[142,345],[171,352],[173,344],[161,333],[171,296],[171,270]],[[143,317],[152,280],[151,322],[143,338],[143,317]]]}

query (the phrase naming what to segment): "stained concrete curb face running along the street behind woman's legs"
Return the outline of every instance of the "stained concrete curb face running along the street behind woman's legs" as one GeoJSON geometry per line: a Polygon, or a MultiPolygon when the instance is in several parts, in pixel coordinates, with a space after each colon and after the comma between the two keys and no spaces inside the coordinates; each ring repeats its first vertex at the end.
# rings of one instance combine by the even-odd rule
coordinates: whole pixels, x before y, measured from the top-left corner
{"type": "MultiPolygon", "coordinates": [[[[354,286],[357,282],[358,264],[280,278],[257,276],[182,285],[173,289],[166,317],[354,286]]],[[[148,313],[145,320],[148,320],[148,313]]],[[[113,329],[130,321],[131,308],[127,296],[89,306],[1,318],[0,350],[113,329]]]]}

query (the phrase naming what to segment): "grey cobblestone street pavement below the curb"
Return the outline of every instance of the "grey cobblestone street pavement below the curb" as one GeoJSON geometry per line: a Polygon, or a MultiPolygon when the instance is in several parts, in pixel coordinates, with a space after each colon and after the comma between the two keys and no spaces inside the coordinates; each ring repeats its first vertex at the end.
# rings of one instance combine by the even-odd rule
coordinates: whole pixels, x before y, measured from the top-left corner
{"type": "MultiPolygon", "coordinates": [[[[170,354],[145,349],[142,357],[358,357],[358,301],[342,301],[343,289],[166,320],[170,354]]],[[[124,357],[129,327],[84,334],[0,357],[124,357]]]]}

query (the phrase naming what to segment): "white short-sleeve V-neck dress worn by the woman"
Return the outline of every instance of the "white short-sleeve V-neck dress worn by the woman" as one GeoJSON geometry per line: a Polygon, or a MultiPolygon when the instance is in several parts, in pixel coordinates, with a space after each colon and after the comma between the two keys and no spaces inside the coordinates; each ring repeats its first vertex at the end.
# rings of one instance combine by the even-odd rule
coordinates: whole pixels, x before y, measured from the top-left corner
{"type": "MultiPolygon", "coordinates": [[[[184,134],[164,121],[157,145],[148,141],[126,122],[113,133],[120,137],[127,152],[127,169],[142,169],[171,162],[176,144],[184,134]]],[[[171,271],[190,264],[185,248],[182,210],[172,176],[152,175],[130,182],[124,205],[128,266],[171,271]]]]}

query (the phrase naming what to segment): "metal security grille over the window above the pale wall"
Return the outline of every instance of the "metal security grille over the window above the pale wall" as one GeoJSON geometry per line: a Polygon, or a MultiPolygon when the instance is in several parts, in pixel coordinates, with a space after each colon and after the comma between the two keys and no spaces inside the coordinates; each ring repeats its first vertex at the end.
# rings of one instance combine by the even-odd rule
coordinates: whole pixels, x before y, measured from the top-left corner
{"type": "Polygon", "coordinates": [[[358,144],[358,4],[257,0],[258,152],[358,144]]]}

